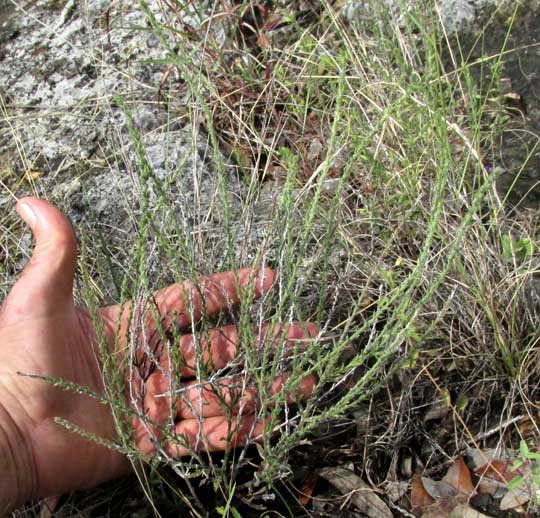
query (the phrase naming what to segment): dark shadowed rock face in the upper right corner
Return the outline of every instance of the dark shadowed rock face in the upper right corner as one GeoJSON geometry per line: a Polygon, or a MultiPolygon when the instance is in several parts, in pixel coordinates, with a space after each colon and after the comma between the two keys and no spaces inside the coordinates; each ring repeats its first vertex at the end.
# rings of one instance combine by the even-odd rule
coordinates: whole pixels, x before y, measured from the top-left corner
{"type": "Polygon", "coordinates": [[[482,94],[504,103],[504,121],[493,121],[498,145],[486,162],[499,174],[498,189],[510,205],[540,206],[540,1],[488,2],[459,35],[482,94]],[[499,56],[503,53],[498,62],[499,56]],[[488,60],[485,58],[488,57],[488,60]],[[499,85],[481,81],[481,72],[499,85]]]}

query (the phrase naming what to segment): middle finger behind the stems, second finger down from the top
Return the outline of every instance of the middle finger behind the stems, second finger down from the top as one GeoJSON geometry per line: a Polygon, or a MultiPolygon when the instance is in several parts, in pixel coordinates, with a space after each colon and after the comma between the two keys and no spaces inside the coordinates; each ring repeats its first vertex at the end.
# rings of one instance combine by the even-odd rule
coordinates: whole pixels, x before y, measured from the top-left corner
{"type": "MultiPolygon", "coordinates": [[[[255,347],[261,347],[265,342],[273,340],[271,345],[275,348],[283,344],[287,348],[296,345],[307,346],[318,333],[318,326],[311,322],[295,322],[290,325],[263,324],[255,338],[255,347]]],[[[201,365],[206,372],[215,372],[223,369],[233,361],[238,351],[238,330],[236,326],[222,326],[212,329],[205,335],[184,335],[178,344],[179,355],[183,359],[180,375],[185,378],[197,374],[197,365],[201,365]]],[[[169,358],[164,356],[160,362],[161,371],[170,371],[169,358]]]]}

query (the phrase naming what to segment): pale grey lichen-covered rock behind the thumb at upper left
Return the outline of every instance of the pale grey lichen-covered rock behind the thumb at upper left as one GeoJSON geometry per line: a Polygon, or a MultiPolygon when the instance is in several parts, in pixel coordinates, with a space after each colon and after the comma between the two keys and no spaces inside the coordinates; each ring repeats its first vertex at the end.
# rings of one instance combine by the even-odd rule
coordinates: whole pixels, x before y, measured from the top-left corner
{"type": "MultiPolygon", "coordinates": [[[[154,15],[164,19],[167,15],[159,4],[148,2],[154,15]]],[[[198,23],[196,15],[184,12],[183,23],[198,23]]],[[[219,175],[213,151],[203,132],[160,102],[165,87],[180,100],[184,94],[174,74],[162,84],[166,51],[148,29],[145,13],[133,2],[50,0],[17,9],[1,4],[2,219],[6,218],[7,228],[16,228],[15,194],[47,197],[70,215],[79,235],[93,236],[89,246],[101,247],[118,265],[129,264],[139,231],[143,186],[126,115],[116,101],[119,96],[133,115],[153,174],[174,193],[173,210],[181,215],[184,230],[192,231],[197,218],[213,221],[207,226],[207,257],[200,261],[200,269],[204,272],[209,265],[219,269],[224,261],[219,246],[223,236],[217,232],[219,175]]],[[[232,169],[224,174],[230,195],[243,199],[244,187],[232,169]]],[[[154,186],[149,190],[153,210],[158,197],[154,186]]],[[[24,235],[22,241],[4,235],[4,255],[14,248],[27,255],[31,239],[24,235]]],[[[106,263],[99,257],[96,265],[106,263]]],[[[19,256],[8,259],[0,295],[25,261],[19,256]]],[[[152,277],[152,265],[149,270],[152,277]]],[[[115,298],[110,272],[96,275],[103,277],[105,298],[115,298]]]]}

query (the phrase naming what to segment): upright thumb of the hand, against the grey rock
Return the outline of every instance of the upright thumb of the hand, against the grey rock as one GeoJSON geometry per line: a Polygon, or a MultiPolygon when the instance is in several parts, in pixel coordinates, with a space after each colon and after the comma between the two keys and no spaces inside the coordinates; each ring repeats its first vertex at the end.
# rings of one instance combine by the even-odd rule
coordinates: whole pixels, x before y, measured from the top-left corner
{"type": "Polygon", "coordinates": [[[41,309],[73,300],[77,239],[69,219],[37,198],[21,198],[17,212],[32,230],[35,246],[9,298],[19,304],[30,301],[33,307],[41,309]]]}

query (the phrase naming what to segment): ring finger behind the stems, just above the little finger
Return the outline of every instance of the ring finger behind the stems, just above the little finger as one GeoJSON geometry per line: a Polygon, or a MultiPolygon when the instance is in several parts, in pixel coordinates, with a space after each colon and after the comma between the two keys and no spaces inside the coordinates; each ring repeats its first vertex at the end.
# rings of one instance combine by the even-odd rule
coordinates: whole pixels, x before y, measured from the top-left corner
{"type": "MultiPolygon", "coordinates": [[[[285,401],[295,404],[306,400],[315,387],[316,378],[309,375],[301,379],[294,389],[287,386],[289,374],[276,376],[268,393],[265,394],[267,406],[274,406],[276,396],[287,390],[285,401]]],[[[198,417],[217,417],[220,415],[253,414],[261,408],[261,396],[253,385],[246,386],[240,378],[227,378],[219,384],[205,384],[200,386],[197,382],[190,382],[184,391],[177,394],[175,402],[176,418],[196,419],[198,417]]]]}

